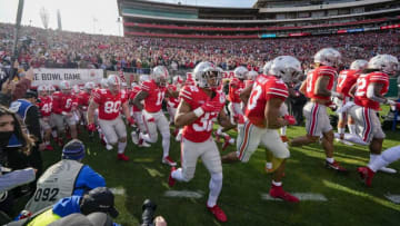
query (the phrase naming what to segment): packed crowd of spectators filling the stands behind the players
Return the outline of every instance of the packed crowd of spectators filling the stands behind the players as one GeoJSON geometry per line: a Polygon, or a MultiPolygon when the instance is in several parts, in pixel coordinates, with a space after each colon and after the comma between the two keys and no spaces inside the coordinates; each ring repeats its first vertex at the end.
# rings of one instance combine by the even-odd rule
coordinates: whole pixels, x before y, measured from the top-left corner
{"type": "MultiPolygon", "coordinates": [[[[239,65],[262,68],[281,55],[291,55],[310,65],[313,53],[333,47],[343,55],[343,62],[369,59],[377,53],[400,57],[400,30],[343,33],[318,37],[277,39],[168,39],[116,37],[21,28],[19,62],[33,68],[102,68],[108,70],[149,72],[158,65],[171,69],[192,69],[201,60],[213,61],[224,70],[239,65]]],[[[0,23],[0,67],[8,66],[12,52],[13,26],[0,23]]]]}

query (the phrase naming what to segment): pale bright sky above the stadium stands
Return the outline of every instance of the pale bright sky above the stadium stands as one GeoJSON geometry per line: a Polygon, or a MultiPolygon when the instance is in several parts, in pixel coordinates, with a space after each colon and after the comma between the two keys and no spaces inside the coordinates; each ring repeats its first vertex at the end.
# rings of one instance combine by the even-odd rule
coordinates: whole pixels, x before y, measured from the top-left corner
{"type": "MultiPolygon", "coordinates": [[[[154,0],[156,1],[156,0],[154,0]]],[[[256,0],[159,0],[159,2],[214,7],[252,7],[256,0]]],[[[0,22],[16,23],[18,0],[0,0],[0,22]]],[[[60,9],[62,29],[87,33],[122,35],[117,0],[24,0],[22,24],[43,28],[39,11],[49,12],[49,28],[56,29],[60,9]]]]}

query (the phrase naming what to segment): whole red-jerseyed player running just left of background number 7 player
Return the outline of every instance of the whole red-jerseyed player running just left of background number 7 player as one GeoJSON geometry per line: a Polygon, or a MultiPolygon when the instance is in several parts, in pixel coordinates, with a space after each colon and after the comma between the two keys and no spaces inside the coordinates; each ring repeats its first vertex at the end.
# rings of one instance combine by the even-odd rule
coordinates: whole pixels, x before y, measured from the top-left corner
{"type": "Polygon", "coordinates": [[[328,106],[331,105],[331,96],[339,96],[332,88],[340,60],[340,52],[332,48],[321,49],[314,55],[316,69],[308,73],[300,87],[300,91],[310,98],[303,108],[307,136],[293,138],[290,144],[308,145],[317,143],[322,136],[322,147],[327,156],[326,167],[346,173],[347,169],[333,159],[334,135],[327,112],[328,106]]]}

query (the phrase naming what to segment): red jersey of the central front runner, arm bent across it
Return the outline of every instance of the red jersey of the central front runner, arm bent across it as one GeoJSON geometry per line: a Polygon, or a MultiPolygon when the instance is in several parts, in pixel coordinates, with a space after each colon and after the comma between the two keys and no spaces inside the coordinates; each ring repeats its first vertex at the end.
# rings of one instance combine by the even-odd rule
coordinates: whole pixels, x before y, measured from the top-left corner
{"type": "MultiPolygon", "coordinates": [[[[190,105],[192,110],[201,107],[209,97],[201,88],[197,86],[184,86],[179,94],[186,102],[190,105]]],[[[220,92],[216,92],[217,100],[224,104],[226,99],[220,92]]],[[[221,106],[222,109],[222,106],[221,106]]],[[[183,127],[183,137],[192,143],[203,143],[210,138],[212,132],[213,121],[217,120],[219,112],[206,112],[199,117],[193,124],[183,127]]]]}

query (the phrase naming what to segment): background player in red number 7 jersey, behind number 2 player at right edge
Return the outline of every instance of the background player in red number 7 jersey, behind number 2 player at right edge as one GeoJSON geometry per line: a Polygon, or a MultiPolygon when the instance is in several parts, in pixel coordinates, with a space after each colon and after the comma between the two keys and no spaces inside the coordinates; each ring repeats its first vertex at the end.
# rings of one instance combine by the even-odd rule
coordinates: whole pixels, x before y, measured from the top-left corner
{"type": "MultiPolygon", "coordinates": [[[[367,68],[367,65],[368,65],[367,60],[356,60],[350,65],[350,70],[340,71],[337,82],[337,89],[336,89],[339,96],[334,98],[338,108],[343,107],[347,102],[349,102],[353,98],[353,95],[350,92],[350,90],[352,90],[353,87],[356,87],[357,78],[359,77],[360,72],[367,68]]],[[[348,143],[343,139],[346,132],[347,114],[340,112],[338,115],[339,115],[339,121],[338,121],[339,138],[337,138],[337,140],[346,145],[352,145],[351,143],[348,143]]],[[[350,134],[354,134],[356,126],[351,117],[349,117],[348,119],[348,126],[350,134]]]]}

